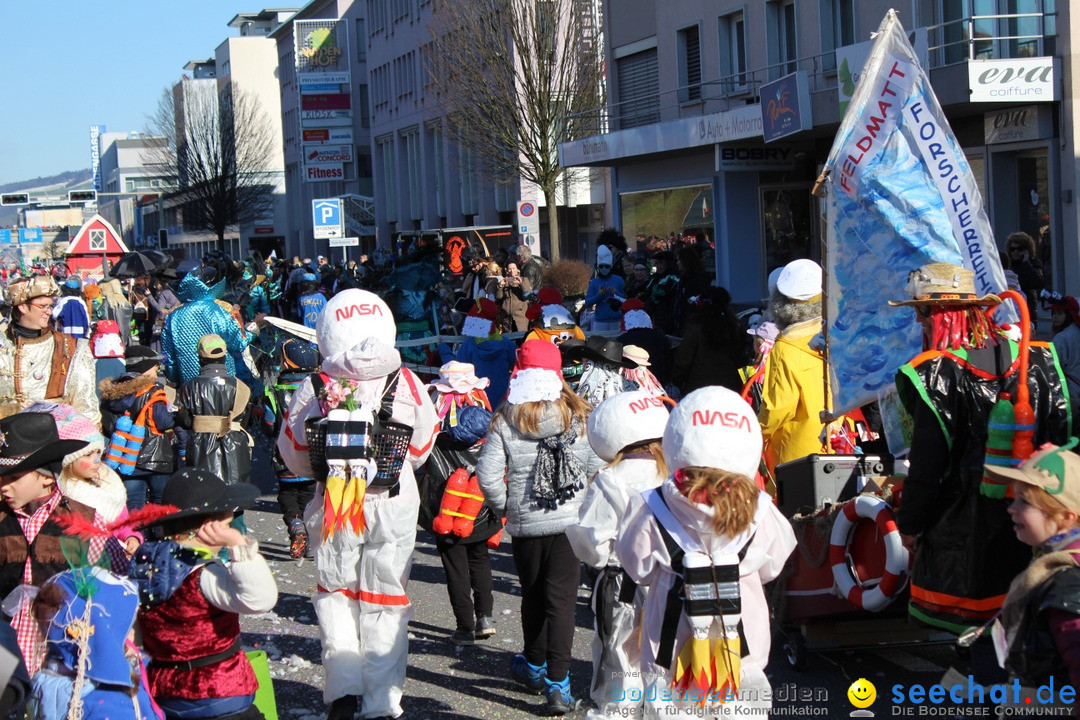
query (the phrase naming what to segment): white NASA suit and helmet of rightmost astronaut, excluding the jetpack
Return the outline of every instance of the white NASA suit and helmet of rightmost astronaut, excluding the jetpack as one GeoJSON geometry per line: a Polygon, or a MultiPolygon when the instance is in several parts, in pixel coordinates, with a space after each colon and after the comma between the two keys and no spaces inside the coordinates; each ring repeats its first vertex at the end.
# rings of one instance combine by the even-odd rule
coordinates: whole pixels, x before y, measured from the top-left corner
{"type": "MultiPolygon", "coordinates": [[[[739,395],[724,388],[702,388],[687,395],[672,411],[663,447],[672,471],[689,466],[714,467],[754,477],[761,456],[761,431],[750,405],[739,395]]],[[[765,675],[771,633],[762,585],[780,574],[795,548],[795,533],[764,492],[758,494],[751,527],[737,538],[717,536],[712,505],[691,502],[678,491],[673,478],[664,480],[660,493],[681,532],[700,543],[714,558],[745,551],[739,560],[738,583],[745,654],[740,663],[738,698],[724,703],[723,707],[706,698],[704,708],[700,702],[679,699],[677,691],[671,687],[672,670],[657,662],[667,592],[677,575],[672,570],[671,554],[661,535],[657,514],[650,506],[649,497],[653,493],[634,498],[616,549],[626,573],[649,588],[642,623],[644,717],[731,717],[738,711],[737,706],[767,711],[772,705],[765,693],[771,690],[765,675]]],[[[675,634],[676,654],[690,636],[690,621],[683,612],[675,634]]],[[[673,660],[672,668],[674,665],[673,660]]]]}

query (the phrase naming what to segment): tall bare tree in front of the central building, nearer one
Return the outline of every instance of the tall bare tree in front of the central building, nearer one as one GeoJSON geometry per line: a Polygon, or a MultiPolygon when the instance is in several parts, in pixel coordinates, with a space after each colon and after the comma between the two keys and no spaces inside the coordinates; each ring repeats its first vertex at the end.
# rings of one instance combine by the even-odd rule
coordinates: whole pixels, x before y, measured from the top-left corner
{"type": "Polygon", "coordinates": [[[521,177],[548,205],[551,260],[559,258],[557,191],[572,179],[558,144],[569,117],[603,104],[593,0],[444,1],[424,49],[450,137],[496,181],[521,177]]]}

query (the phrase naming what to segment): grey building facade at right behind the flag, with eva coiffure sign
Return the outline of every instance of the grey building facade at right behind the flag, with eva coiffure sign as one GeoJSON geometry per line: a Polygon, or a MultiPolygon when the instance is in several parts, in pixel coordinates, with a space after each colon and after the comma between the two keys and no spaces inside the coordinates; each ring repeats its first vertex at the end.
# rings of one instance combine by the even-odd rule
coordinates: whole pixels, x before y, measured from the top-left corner
{"type": "Polygon", "coordinates": [[[564,163],[611,168],[616,223],[631,244],[673,231],[704,235],[715,243],[717,284],[735,300],[760,298],[770,270],[820,258],[820,207],[810,189],[870,33],[893,6],[929,68],[999,245],[1015,230],[1041,239],[1048,283],[1080,290],[1077,68],[1069,67],[1078,21],[1068,3],[608,0],[609,103],[588,119],[591,137],[562,147],[564,163]],[[971,83],[985,74],[972,70],[1000,70],[1016,58],[1048,68],[1057,83],[1064,78],[1064,99],[1032,99],[1009,73],[1012,81],[987,93],[993,99],[972,100],[978,89],[971,83]],[[811,122],[765,142],[761,87],[794,72],[805,76],[811,122]]]}

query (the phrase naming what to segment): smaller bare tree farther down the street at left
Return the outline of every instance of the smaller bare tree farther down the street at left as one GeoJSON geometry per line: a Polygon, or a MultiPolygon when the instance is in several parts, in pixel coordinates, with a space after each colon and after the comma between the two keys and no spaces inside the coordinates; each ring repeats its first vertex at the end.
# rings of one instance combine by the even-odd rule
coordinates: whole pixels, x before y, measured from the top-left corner
{"type": "Polygon", "coordinates": [[[180,207],[185,228],[213,232],[224,249],[230,227],[271,208],[273,127],[254,95],[231,82],[185,80],[162,92],[149,124],[166,141],[144,162],[174,185],[166,199],[180,207]]]}

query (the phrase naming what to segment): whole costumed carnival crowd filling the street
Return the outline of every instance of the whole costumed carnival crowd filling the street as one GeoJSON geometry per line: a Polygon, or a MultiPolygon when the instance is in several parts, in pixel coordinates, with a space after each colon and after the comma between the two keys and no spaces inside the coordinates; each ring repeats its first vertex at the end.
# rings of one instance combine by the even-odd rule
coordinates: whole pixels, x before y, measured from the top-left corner
{"type": "MultiPolygon", "coordinates": [[[[367,257],[11,273],[0,607],[24,670],[0,704],[28,696],[48,720],[270,711],[239,623],[276,600],[243,517],[257,432],[289,553],[314,558],[328,720],[403,712],[418,525],[458,646],[498,633],[490,549],[510,535],[523,647],[508,674],[543,711],[583,694],[596,718],[767,710],[765,586],[796,547],[780,468],[865,451],[882,427],[869,407],[821,417],[815,262],[778,268],[740,320],[703,270],[707,245],[671,241],[631,253],[605,233],[577,301],[528,246],[469,257],[406,288],[421,308],[449,297],[453,335],[431,327],[422,362],[401,341],[427,311],[406,320],[400,279],[367,257]],[[570,677],[581,563],[589,679],[570,677]]],[[[1018,342],[970,271],[926,266],[908,287],[896,304],[926,351],[897,371],[912,615],[957,633],[997,621],[1000,663],[990,634],[973,649],[980,681],[1080,687],[1080,307],[1048,296],[1053,342],[1018,342]],[[996,413],[1017,395],[1038,451],[998,462],[996,413]]]]}

